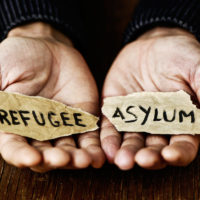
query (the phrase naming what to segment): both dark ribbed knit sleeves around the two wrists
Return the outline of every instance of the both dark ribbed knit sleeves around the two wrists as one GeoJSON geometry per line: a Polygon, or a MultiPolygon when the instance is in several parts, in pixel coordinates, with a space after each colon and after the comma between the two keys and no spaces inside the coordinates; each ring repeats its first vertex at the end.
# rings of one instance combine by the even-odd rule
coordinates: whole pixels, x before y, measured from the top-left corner
{"type": "MultiPolygon", "coordinates": [[[[0,39],[13,27],[43,21],[69,36],[75,46],[84,41],[79,0],[0,0],[0,39]]],[[[199,0],[140,0],[125,34],[125,43],[155,26],[182,27],[200,41],[199,0]]]]}

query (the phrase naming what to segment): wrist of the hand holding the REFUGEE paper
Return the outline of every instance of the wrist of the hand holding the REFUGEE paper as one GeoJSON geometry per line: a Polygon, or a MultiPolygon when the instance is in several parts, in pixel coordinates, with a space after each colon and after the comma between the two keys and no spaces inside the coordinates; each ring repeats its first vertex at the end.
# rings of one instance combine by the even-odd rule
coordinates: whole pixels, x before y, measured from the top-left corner
{"type": "Polygon", "coordinates": [[[33,22],[13,28],[9,31],[7,37],[54,39],[65,43],[68,46],[73,46],[71,40],[67,36],[53,28],[51,25],[43,22],[33,22]]]}

